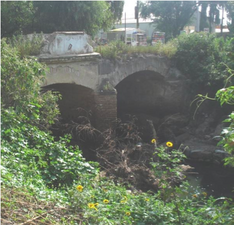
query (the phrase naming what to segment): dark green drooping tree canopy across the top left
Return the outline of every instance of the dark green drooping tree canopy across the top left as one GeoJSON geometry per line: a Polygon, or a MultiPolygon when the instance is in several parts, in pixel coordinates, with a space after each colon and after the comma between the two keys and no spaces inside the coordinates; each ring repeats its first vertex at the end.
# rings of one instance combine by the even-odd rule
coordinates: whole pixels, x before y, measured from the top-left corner
{"type": "Polygon", "coordinates": [[[121,18],[123,4],[116,1],[4,1],[2,36],[74,30],[95,35],[121,18]]]}

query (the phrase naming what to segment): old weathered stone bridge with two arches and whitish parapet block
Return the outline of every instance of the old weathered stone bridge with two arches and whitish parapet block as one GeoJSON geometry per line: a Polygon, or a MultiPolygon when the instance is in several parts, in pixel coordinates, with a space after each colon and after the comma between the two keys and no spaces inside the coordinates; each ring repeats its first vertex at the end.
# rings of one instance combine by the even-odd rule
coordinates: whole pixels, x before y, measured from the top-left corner
{"type": "Polygon", "coordinates": [[[126,114],[163,117],[185,109],[186,78],[166,57],[105,59],[93,52],[86,34],[59,32],[47,37],[39,61],[49,67],[44,88],[62,95],[63,118],[83,113],[104,130],[126,114]]]}

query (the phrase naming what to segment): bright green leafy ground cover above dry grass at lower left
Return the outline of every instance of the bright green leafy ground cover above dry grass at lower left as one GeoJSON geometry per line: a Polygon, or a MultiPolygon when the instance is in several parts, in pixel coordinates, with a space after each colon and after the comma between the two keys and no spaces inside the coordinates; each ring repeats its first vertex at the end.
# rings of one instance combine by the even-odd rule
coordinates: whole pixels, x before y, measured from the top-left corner
{"type": "Polygon", "coordinates": [[[96,164],[86,162],[77,147],[68,147],[67,137],[55,141],[29,120],[2,109],[2,165],[8,171],[19,177],[41,176],[50,187],[71,185],[83,173],[96,175],[96,164]]]}

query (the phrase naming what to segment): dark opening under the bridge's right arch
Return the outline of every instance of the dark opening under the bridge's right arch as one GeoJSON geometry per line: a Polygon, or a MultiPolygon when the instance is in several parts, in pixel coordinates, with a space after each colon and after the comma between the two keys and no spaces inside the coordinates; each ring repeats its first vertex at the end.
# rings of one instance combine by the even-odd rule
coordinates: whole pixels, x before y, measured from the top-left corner
{"type": "Polygon", "coordinates": [[[117,110],[118,117],[126,113],[147,113],[161,115],[160,109],[166,91],[166,81],[162,75],[154,71],[140,71],[129,75],[118,85],[117,110]]]}

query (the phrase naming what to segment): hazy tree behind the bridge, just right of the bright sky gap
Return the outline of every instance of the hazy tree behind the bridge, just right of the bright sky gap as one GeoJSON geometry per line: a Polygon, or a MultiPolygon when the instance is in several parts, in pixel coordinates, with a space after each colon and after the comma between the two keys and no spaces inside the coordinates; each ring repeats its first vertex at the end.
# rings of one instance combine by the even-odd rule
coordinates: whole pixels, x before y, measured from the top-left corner
{"type": "Polygon", "coordinates": [[[140,4],[141,16],[153,15],[153,23],[159,31],[166,33],[167,40],[180,34],[196,10],[196,1],[148,1],[140,4]]]}

